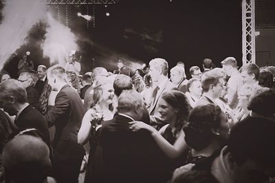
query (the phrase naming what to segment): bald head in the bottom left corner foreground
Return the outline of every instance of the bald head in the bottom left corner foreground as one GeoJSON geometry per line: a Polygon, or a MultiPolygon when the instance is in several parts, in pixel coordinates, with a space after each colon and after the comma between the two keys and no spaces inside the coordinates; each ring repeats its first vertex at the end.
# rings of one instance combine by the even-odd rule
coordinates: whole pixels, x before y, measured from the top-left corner
{"type": "Polygon", "coordinates": [[[5,177],[14,182],[43,182],[50,171],[50,150],[41,138],[20,135],[9,141],[2,154],[5,177]]]}

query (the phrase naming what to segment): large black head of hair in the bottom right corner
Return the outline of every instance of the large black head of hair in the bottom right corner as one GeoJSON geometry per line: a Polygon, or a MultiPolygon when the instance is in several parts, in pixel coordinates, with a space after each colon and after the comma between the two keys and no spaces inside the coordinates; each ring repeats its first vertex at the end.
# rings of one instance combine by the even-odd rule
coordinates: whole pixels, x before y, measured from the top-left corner
{"type": "Polygon", "coordinates": [[[264,168],[275,165],[274,121],[250,117],[239,121],[230,132],[228,149],[239,166],[252,160],[264,168]]]}

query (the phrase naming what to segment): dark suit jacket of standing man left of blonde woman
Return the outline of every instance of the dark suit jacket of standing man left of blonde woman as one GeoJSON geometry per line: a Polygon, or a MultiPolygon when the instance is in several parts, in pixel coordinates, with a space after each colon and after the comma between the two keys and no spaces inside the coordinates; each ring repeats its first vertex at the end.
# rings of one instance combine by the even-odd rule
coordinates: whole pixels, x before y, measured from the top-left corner
{"type": "Polygon", "coordinates": [[[47,111],[46,119],[56,127],[54,159],[79,158],[85,150],[78,145],[77,135],[84,116],[83,102],[76,90],[68,84],[56,95],[54,107],[47,111]]]}

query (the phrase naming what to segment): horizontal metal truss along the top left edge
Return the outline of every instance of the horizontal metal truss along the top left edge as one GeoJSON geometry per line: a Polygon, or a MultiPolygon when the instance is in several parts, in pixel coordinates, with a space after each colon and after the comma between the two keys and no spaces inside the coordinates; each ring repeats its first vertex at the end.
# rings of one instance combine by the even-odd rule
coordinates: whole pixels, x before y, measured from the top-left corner
{"type": "MultiPolygon", "coordinates": [[[[18,2],[28,3],[28,0],[18,2]]],[[[115,4],[119,0],[41,0],[41,2],[46,4],[115,4]]],[[[1,3],[15,3],[16,1],[0,0],[1,3]]],[[[31,1],[30,1],[31,2],[31,1]]]]}

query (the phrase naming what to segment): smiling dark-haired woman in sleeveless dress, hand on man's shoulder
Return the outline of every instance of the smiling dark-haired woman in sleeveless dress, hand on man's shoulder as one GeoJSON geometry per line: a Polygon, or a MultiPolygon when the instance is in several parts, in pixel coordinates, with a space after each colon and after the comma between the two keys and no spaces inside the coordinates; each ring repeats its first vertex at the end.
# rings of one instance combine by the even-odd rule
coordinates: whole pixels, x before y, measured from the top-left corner
{"type": "Polygon", "coordinates": [[[159,131],[151,125],[146,125],[140,121],[131,122],[131,129],[137,131],[146,129],[151,132],[157,145],[164,151],[168,158],[177,158],[188,149],[184,141],[184,124],[187,123],[190,105],[184,93],[177,90],[170,90],[162,94],[159,101],[159,120],[164,121],[164,125],[159,131]]]}

